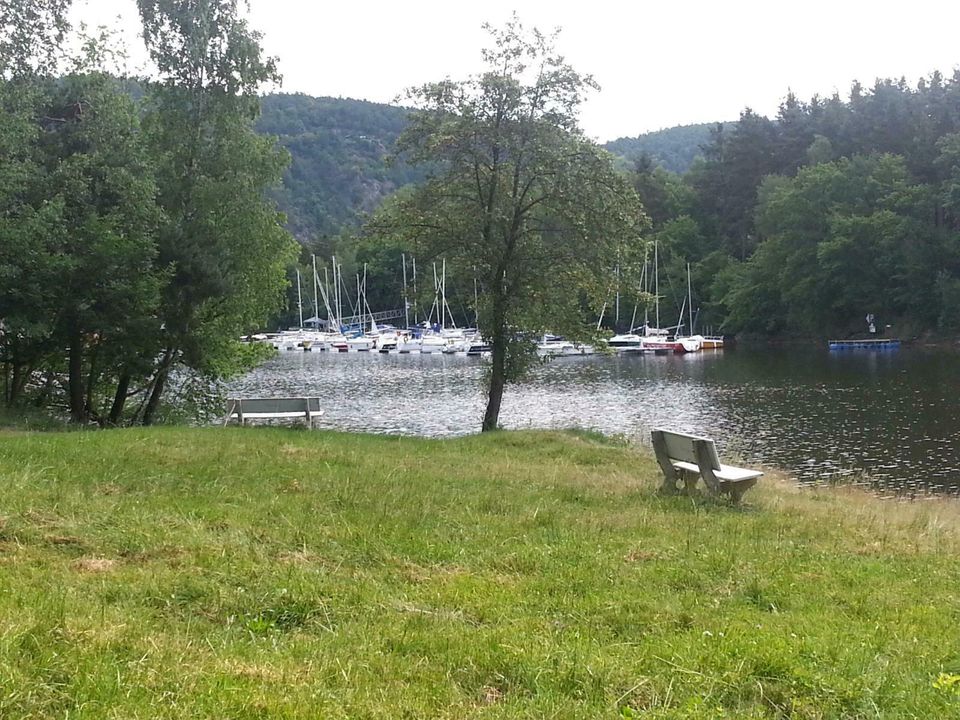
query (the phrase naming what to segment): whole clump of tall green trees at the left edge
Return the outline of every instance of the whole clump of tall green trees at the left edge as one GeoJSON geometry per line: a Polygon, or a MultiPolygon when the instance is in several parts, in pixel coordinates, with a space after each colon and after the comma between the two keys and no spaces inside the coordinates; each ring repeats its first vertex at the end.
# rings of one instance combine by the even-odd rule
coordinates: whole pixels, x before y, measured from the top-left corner
{"type": "Polygon", "coordinates": [[[287,156],[254,130],[278,75],[237,0],[140,0],[139,85],[106,36],[64,56],[67,6],[0,13],[2,404],[151,424],[255,360],[240,335],[282,307],[287,156]]]}

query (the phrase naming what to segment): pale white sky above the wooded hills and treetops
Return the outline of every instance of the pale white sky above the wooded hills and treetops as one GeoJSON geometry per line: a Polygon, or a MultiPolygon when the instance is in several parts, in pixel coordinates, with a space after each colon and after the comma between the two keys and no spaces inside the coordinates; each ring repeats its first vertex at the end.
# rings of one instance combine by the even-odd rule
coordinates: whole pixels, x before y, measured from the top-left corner
{"type": "MultiPolygon", "coordinates": [[[[284,92],[393,102],[405,88],[480,72],[484,23],[561,29],[559,51],[600,84],[580,124],[600,142],[674,125],[767,116],[792,90],[846,97],[854,80],[960,68],[950,0],[250,0],[284,92]]],[[[134,0],[74,0],[73,18],[124,31],[142,58],[134,0]],[[120,17],[118,21],[117,18],[120,17]]]]}

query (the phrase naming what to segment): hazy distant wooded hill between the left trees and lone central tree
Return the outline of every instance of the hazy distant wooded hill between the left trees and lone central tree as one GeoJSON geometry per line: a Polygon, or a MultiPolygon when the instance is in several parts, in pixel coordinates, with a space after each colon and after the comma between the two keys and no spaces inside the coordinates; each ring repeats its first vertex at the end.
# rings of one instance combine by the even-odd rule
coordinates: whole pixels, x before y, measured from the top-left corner
{"type": "Polygon", "coordinates": [[[356,226],[362,213],[421,177],[384,162],[405,118],[403,108],[364,100],[282,94],[263,99],[257,129],[277,136],[291,155],[275,198],[301,243],[356,226]]]}

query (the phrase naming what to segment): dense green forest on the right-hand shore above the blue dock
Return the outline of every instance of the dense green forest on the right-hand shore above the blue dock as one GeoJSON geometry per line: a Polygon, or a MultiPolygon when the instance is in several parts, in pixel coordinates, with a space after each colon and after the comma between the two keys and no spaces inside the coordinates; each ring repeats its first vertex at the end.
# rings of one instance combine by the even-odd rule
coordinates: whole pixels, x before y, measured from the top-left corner
{"type": "Polygon", "coordinates": [[[713,129],[683,177],[642,162],[636,182],[668,277],[694,264],[704,323],[960,329],[960,73],[788,95],[774,119],[747,109],[713,129]]]}

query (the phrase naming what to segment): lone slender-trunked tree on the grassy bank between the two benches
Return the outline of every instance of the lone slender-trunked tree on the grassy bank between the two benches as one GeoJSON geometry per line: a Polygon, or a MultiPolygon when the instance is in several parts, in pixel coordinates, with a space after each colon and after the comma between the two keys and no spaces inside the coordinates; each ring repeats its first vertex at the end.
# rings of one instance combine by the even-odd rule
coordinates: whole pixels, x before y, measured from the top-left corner
{"type": "Polygon", "coordinates": [[[492,347],[485,431],[497,427],[506,383],[528,367],[533,337],[585,336],[584,308],[599,310],[618,264],[631,268],[644,219],[612,158],[577,126],[593,80],[556,54],[555,36],[516,18],[487,30],[482,75],[409,91],[415,112],[398,155],[434,170],[370,226],[477,279],[492,347]]]}

